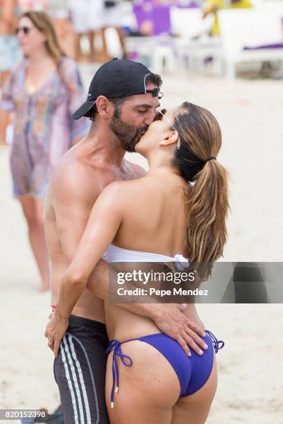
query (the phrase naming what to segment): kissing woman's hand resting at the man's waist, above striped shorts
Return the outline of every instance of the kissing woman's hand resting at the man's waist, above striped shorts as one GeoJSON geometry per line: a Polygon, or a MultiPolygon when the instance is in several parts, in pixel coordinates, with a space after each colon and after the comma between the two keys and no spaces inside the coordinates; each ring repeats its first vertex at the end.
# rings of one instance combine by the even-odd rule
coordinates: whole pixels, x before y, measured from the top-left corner
{"type": "Polygon", "coordinates": [[[44,336],[48,339],[47,346],[51,348],[55,357],[58,357],[59,346],[69,326],[69,318],[61,317],[58,312],[53,312],[46,325],[44,336]]]}

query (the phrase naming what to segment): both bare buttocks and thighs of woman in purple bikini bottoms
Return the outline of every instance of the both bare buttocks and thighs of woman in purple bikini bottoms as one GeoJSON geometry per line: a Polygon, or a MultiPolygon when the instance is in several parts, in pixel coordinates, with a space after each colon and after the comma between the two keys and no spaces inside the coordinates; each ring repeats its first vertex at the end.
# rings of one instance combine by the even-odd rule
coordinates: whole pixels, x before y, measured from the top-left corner
{"type": "Polygon", "coordinates": [[[217,386],[216,361],[205,385],[195,394],[180,396],[180,382],[171,364],[153,346],[144,342],[122,345],[132,358],[124,366],[118,358],[120,387],[110,407],[112,355],[106,371],[106,405],[111,424],[204,424],[217,386]]]}

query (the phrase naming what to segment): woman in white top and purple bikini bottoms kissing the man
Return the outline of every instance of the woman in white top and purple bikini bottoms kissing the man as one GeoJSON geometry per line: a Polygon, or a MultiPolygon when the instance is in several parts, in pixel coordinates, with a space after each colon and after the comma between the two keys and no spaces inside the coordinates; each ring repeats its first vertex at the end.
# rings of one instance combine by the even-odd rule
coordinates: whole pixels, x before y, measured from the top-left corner
{"type": "MultiPolygon", "coordinates": [[[[148,159],[146,177],[110,184],[94,205],[60,285],[56,312],[62,317],[69,314],[63,307],[67,288],[87,281],[103,252],[109,262],[168,262],[176,255],[180,261],[182,255],[191,263],[213,263],[223,253],[228,184],[225,168],[216,161],[220,127],[206,109],[191,103],[161,117],[136,145],[148,159]]],[[[204,330],[194,304],[184,313],[204,330]]],[[[188,357],[145,317],[108,302],[105,317],[111,340],[110,422],[204,423],[216,391],[214,348],[222,347],[212,333],[206,330],[203,337],[203,355],[188,357]]]]}

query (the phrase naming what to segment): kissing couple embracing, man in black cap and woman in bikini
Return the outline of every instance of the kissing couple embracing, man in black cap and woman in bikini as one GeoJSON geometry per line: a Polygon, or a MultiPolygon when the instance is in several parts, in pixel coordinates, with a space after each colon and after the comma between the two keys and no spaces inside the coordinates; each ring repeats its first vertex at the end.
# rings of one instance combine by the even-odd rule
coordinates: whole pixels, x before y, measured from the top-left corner
{"type": "Polygon", "coordinates": [[[66,424],[202,424],[216,393],[223,342],[194,303],[109,301],[108,264],[214,263],[226,242],[218,122],[188,102],[157,112],[161,85],[138,62],[103,64],[73,115],[89,133],[49,183],[45,336],[66,424]],[[148,172],[125,159],[134,151],[148,172]]]}

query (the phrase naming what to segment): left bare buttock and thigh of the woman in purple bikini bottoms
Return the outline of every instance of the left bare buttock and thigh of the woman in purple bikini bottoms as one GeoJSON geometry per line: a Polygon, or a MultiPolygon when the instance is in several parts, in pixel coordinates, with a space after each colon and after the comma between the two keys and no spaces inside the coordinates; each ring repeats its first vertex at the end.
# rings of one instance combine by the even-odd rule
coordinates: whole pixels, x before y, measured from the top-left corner
{"type": "Polygon", "coordinates": [[[180,394],[178,376],[166,358],[144,342],[122,344],[132,366],[119,362],[119,393],[110,407],[112,355],[106,368],[106,405],[111,424],[171,424],[172,407],[180,394]]]}

